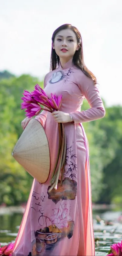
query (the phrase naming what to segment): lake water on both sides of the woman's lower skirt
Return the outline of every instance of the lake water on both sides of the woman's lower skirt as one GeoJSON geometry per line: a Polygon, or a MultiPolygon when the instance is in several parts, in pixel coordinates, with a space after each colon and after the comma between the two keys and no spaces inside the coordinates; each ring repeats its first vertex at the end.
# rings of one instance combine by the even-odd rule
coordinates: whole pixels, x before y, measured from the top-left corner
{"type": "MultiPolygon", "coordinates": [[[[120,211],[93,210],[95,255],[107,255],[110,245],[122,240],[122,217],[120,216],[120,211]],[[100,222],[99,218],[101,218],[100,222]]],[[[15,241],[22,217],[23,213],[0,213],[1,246],[15,241]]]]}

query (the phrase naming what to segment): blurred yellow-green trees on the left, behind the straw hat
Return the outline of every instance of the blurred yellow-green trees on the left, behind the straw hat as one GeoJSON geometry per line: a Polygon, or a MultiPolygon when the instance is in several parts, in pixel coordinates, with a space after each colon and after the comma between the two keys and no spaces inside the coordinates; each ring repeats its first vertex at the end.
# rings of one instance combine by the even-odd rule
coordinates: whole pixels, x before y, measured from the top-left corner
{"type": "Polygon", "coordinates": [[[0,80],[0,204],[16,205],[28,200],[33,178],[12,157],[12,150],[22,133],[21,110],[24,89],[33,90],[36,83],[30,75],[0,80]]]}

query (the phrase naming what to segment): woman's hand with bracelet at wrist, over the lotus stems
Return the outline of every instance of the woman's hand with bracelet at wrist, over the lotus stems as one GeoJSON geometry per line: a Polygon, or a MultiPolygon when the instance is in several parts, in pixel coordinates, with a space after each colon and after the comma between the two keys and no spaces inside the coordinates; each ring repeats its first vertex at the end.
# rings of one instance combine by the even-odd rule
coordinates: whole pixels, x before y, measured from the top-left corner
{"type": "Polygon", "coordinates": [[[54,117],[54,119],[57,123],[71,122],[70,114],[64,113],[62,111],[54,111],[54,112],[52,112],[52,116],[54,117]]]}

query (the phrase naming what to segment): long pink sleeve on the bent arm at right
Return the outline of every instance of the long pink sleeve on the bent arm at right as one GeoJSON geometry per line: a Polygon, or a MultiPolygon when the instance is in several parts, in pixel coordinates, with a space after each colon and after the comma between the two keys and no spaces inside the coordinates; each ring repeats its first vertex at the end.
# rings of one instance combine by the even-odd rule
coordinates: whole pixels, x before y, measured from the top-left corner
{"type": "Polygon", "coordinates": [[[104,117],[104,105],[99,95],[99,91],[94,85],[93,80],[82,74],[82,78],[77,79],[77,85],[80,88],[81,93],[87,99],[91,108],[88,110],[83,110],[81,112],[71,112],[74,123],[79,124],[82,122],[89,122],[104,117]]]}

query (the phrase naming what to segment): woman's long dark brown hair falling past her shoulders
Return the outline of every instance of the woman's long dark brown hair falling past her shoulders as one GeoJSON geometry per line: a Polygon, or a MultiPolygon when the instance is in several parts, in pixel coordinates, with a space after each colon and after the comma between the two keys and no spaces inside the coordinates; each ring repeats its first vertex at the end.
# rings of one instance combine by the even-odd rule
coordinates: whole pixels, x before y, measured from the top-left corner
{"type": "MultiPolygon", "coordinates": [[[[78,31],[78,29],[76,27],[72,26],[71,24],[61,25],[60,27],[58,27],[54,31],[54,33],[52,35],[52,43],[54,43],[55,36],[59,31],[64,30],[64,29],[68,29],[68,28],[71,29],[75,33],[76,38],[77,38],[77,44],[80,46],[79,49],[74,53],[74,56],[73,56],[74,65],[76,67],[78,67],[79,69],[81,69],[87,77],[92,78],[92,80],[94,81],[94,84],[97,84],[96,77],[85,66],[84,55],[83,55],[82,38],[81,38],[80,32],[78,31]]],[[[51,60],[50,60],[50,71],[59,67],[59,60],[60,60],[59,56],[56,54],[55,49],[52,48],[51,49],[51,60]]]]}

